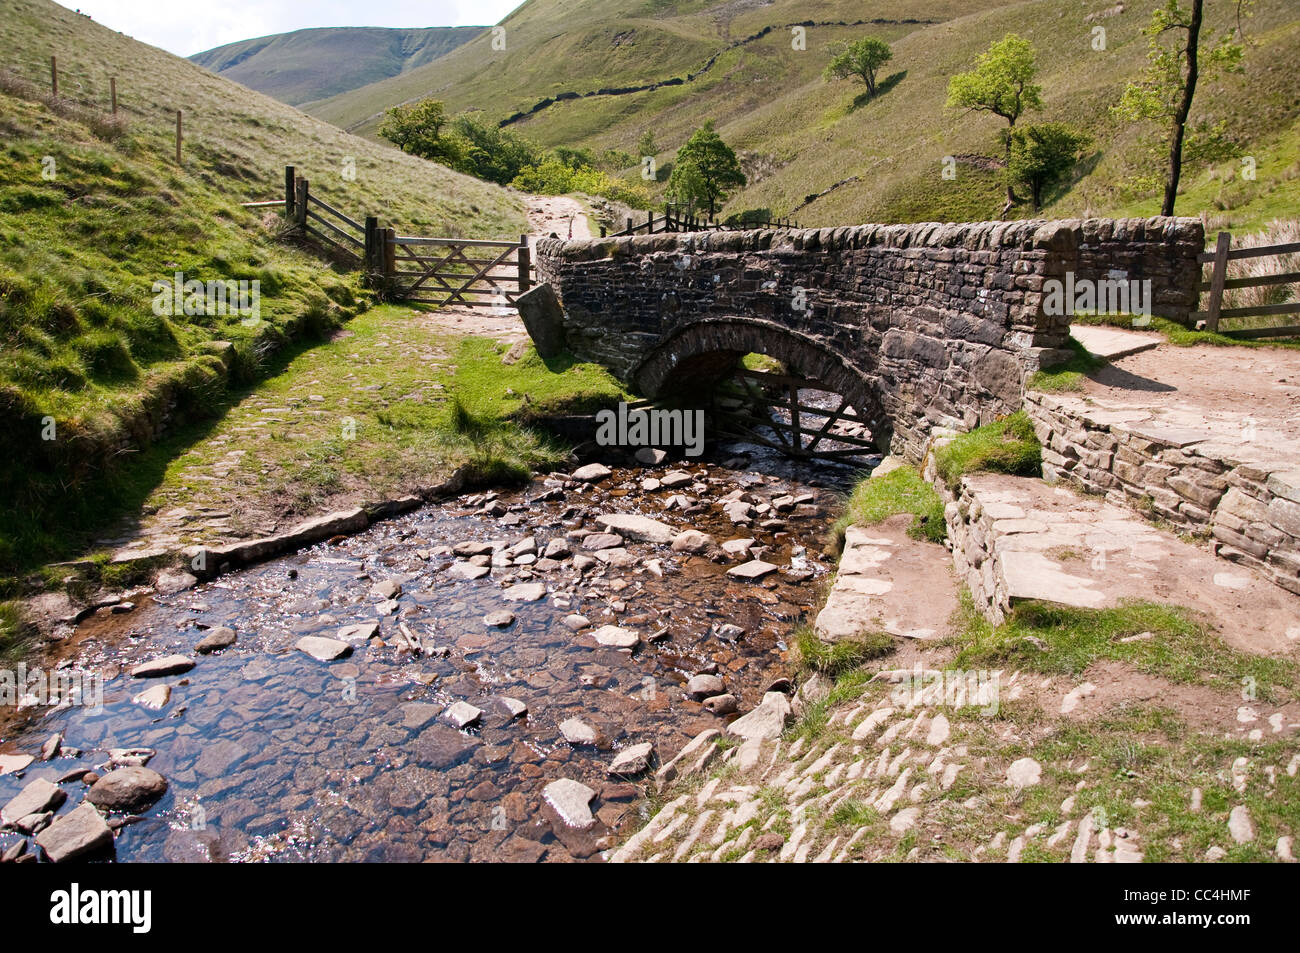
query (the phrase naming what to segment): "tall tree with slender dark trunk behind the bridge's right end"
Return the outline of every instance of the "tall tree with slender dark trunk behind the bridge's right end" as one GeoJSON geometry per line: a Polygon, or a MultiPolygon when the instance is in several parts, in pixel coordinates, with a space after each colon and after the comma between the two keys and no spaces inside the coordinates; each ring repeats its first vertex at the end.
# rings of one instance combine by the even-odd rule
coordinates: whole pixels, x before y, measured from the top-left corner
{"type": "MultiPolygon", "coordinates": [[[[1248,0],[1238,4],[1238,22],[1248,0]]],[[[1178,181],[1183,174],[1184,150],[1190,143],[1187,117],[1192,112],[1196,85],[1217,73],[1238,73],[1244,48],[1226,30],[1212,43],[1201,43],[1204,0],[1191,0],[1191,9],[1179,0],[1165,0],[1144,27],[1149,40],[1148,65],[1141,79],[1128,83],[1114,107],[1128,120],[1152,120],[1169,124],[1169,159],[1165,170],[1165,200],[1161,215],[1174,215],[1178,181]],[[1174,34],[1173,47],[1161,46],[1165,34],[1174,34]]],[[[1216,135],[1219,130],[1212,130],[1216,135]]]]}

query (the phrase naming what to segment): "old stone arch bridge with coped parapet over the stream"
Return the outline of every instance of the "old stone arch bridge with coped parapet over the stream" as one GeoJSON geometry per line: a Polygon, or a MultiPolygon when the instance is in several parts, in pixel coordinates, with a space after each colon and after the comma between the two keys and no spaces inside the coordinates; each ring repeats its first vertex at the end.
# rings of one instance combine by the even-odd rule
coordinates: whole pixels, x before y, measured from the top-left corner
{"type": "Polygon", "coordinates": [[[520,313],[543,356],[567,347],[651,398],[771,355],[916,458],[935,426],[1018,410],[1027,377],[1067,356],[1046,282],[1149,281],[1152,311],[1186,322],[1202,250],[1195,218],[549,238],[520,313]]]}

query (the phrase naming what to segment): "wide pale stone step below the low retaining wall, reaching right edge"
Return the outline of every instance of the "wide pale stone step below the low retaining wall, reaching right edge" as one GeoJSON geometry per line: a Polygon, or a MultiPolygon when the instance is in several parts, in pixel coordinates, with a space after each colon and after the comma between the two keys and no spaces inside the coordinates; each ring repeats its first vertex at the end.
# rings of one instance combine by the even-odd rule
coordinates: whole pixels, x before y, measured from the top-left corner
{"type": "Polygon", "coordinates": [[[1247,651],[1291,651],[1300,640],[1300,597],[1104,498],[976,473],[945,516],[958,573],[993,620],[1023,599],[1080,608],[1144,599],[1209,612],[1247,651]]]}

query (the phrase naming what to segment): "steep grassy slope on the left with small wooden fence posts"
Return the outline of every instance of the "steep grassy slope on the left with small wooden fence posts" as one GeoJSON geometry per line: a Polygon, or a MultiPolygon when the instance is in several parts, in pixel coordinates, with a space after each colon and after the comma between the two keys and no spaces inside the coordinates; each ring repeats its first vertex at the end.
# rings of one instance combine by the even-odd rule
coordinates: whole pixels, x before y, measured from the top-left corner
{"type": "Polygon", "coordinates": [[[286,164],[313,194],[403,229],[525,228],[502,189],[347,135],[48,0],[9,0],[5,14],[0,575],[74,545],[69,527],[92,529],[134,451],[365,307],[355,273],[286,244],[274,211],[240,208],[277,198],[286,164]],[[155,313],[153,282],[177,272],[259,281],[260,316],[155,313]]]}

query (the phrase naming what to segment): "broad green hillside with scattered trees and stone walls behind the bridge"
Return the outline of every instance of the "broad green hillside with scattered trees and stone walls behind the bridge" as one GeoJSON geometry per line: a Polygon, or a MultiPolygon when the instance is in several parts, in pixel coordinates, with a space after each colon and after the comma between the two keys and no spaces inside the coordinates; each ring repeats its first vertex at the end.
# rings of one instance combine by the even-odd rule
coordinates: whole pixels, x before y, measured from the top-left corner
{"type": "MultiPolygon", "coordinates": [[[[1109,111],[1147,62],[1140,31],[1156,5],[1139,0],[1117,13],[1104,0],[529,0],[503,21],[503,51],[485,34],[428,66],[307,108],[367,137],[386,107],[429,95],[448,112],[480,109],[494,121],[524,113],[510,129],[543,146],[634,152],[651,130],[660,166],[712,118],[750,178],[727,212],[767,208],[811,225],[988,218],[1002,198],[983,157],[1000,155],[1001,121],[946,111],[944,100],[949,77],[1017,31],[1037,51],[1044,90],[1045,108],[1028,118],[1071,122],[1095,139],[1078,181],[1049,196],[1046,213],[1148,215],[1157,196],[1131,182],[1157,130],[1109,111]],[[800,23],[803,51],[792,48],[800,23]],[[1104,51],[1092,48],[1097,26],[1104,51]],[[890,88],[870,103],[861,85],[822,79],[829,47],[864,34],[889,40],[894,53],[883,75],[890,88]],[[956,179],[941,177],[945,156],[957,160],[956,179]]],[[[1208,33],[1231,26],[1235,13],[1235,0],[1209,0],[1208,33]]],[[[1244,74],[1204,85],[1192,116],[1225,120],[1234,155],[1193,164],[1179,209],[1234,228],[1300,207],[1300,8],[1258,0],[1247,34],[1244,74]],[[1257,160],[1251,182],[1235,174],[1244,155],[1257,160]]]]}

